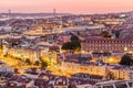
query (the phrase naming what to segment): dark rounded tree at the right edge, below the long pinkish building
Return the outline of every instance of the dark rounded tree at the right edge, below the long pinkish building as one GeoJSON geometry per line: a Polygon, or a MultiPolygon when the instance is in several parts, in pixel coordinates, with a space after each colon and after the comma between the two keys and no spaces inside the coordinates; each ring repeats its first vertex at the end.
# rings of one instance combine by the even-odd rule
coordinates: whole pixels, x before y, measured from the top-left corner
{"type": "Polygon", "coordinates": [[[126,66],[132,66],[133,65],[133,59],[130,55],[125,54],[122,56],[122,59],[120,62],[121,65],[126,65],[126,66]]]}

